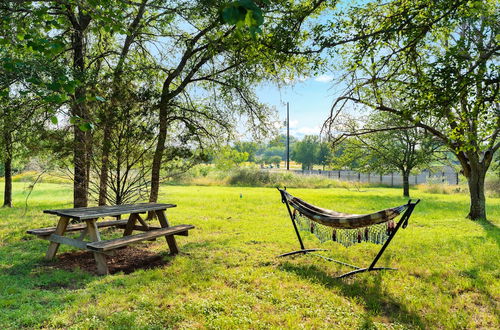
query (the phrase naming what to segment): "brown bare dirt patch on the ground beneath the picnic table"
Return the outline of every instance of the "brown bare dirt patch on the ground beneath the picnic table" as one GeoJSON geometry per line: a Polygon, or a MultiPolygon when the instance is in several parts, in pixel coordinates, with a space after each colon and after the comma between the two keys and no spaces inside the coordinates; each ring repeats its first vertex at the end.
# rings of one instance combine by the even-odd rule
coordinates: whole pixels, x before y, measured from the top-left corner
{"type": "MultiPolygon", "coordinates": [[[[163,256],[149,250],[125,247],[115,250],[114,256],[106,256],[110,274],[123,272],[130,274],[138,269],[152,269],[168,265],[163,256]]],[[[90,251],[74,251],[61,253],[51,262],[50,267],[73,271],[82,269],[97,274],[94,253],[90,251]]]]}

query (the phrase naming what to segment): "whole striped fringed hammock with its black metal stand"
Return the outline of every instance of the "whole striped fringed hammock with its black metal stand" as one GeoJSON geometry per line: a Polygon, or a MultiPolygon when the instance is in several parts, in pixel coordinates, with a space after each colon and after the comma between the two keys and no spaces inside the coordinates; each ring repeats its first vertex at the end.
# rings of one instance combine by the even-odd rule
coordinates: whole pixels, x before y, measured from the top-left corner
{"type": "Polygon", "coordinates": [[[300,250],[281,254],[279,257],[294,254],[306,254],[314,251],[326,251],[325,249],[306,249],[299,233],[300,227],[300,229],[310,231],[316,235],[321,242],[334,241],[344,246],[350,246],[361,242],[383,244],[370,266],[366,268],[357,267],[342,261],[318,255],[329,261],[334,261],[355,269],[342,274],[337,278],[343,278],[357,273],[374,270],[395,269],[389,267],[375,267],[375,265],[393,237],[396,235],[399,228],[406,228],[408,225],[408,219],[410,218],[415,206],[420,202],[420,199],[416,202],[409,200],[407,204],[371,214],[349,214],[314,206],[300,198],[290,195],[285,189],[278,188],[281,193],[281,201],[286,204],[288,214],[290,215],[295,233],[297,234],[297,239],[300,243],[300,250]],[[293,212],[290,207],[293,208],[293,212]],[[400,220],[397,224],[395,224],[393,219],[400,215],[403,211],[404,213],[400,220]]]}

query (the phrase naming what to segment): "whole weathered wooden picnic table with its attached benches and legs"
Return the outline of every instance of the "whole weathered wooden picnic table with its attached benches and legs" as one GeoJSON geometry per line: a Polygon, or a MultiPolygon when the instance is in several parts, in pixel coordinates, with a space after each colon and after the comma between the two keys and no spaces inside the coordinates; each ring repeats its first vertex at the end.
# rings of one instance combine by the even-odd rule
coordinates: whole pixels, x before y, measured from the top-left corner
{"type": "Polygon", "coordinates": [[[28,234],[33,234],[39,238],[50,241],[49,248],[45,254],[46,259],[55,257],[60,244],[71,245],[80,249],[92,251],[97,265],[98,274],[108,274],[106,255],[112,254],[113,250],[145,240],[154,240],[164,236],[167,240],[171,254],[179,253],[176,235],[187,236],[192,225],[170,226],[165,215],[169,208],[176,207],[175,204],[143,203],[116,206],[79,207],[73,209],[45,210],[44,213],[59,216],[56,227],[38,228],[28,230],[28,234]],[[150,226],[142,219],[140,214],[152,212],[158,218],[160,226],[150,226]],[[112,216],[119,217],[130,214],[127,220],[97,221],[99,218],[112,216]],[[74,219],[81,223],[69,224],[74,219]],[[139,224],[137,224],[139,222],[139,224]],[[117,227],[124,229],[123,237],[102,240],[99,228],[117,227]],[[143,233],[132,235],[132,232],[142,231],[143,233]],[[81,232],[78,238],[64,236],[67,232],[81,232]],[[84,241],[88,236],[90,241],[84,241]]]}

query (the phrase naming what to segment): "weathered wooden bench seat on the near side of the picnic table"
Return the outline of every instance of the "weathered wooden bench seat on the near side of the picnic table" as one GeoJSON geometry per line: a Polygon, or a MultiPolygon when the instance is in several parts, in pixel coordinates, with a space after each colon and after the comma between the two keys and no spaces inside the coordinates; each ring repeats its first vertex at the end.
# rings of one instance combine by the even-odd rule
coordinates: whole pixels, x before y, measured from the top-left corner
{"type": "Polygon", "coordinates": [[[172,226],[168,228],[160,228],[151,231],[147,231],[145,233],[124,236],[120,238],[115,238],[107,241],[93,242],[88,243],[87,248],[95,250],[95,251],[108,251],[113,250],[122,246],[126,246],[132,243],[137,243],[145,240],[149,240],[152,238],[160,237],[160,236],[171,236],[177,235],[182,232],[186,232],[190,229],[193,229],[192,225],[178,225],[172,226]]]}

